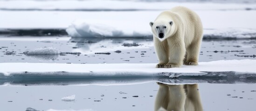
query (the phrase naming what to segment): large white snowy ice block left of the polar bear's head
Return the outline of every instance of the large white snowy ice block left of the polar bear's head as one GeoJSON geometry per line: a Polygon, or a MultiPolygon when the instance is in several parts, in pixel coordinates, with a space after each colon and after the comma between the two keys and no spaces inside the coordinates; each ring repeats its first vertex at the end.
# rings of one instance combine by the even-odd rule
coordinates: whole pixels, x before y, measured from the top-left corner
{"type": "Polygon", "coordinates": [[[98,21],[76,20],[66,29],[71,37],[151,37],[149,28],[144,24],[130,25],[134,21],[98,21]],[[100,22],[100,24],[99,24],[100,22]]]}

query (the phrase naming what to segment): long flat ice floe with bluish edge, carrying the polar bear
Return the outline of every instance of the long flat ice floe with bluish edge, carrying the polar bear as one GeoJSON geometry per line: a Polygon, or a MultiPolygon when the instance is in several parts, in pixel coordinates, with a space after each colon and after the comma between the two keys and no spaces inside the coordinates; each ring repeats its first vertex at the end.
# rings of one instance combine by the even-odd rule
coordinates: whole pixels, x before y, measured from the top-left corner
{"type": "Polygon", "coordinates": [[[18,81],[9,82],[11,84],[27,85],[114,85],[140,83],[150,80],[165,81],[166,78],[171,83],[208,83],[208,80],[215,79],[222,80],[222,82],[224,79],[227,83],[241,79],[249,80],[245,82],[256,82],[256,60],[199,62],[198,66],[182,66],[181,68],[155,68],[155,65],[154,63],[0,63],[0,82],[16,79],[18,81]],[[38,81],[35,82],[35,80],[38,81]],[[59,81],[59,83],[56,83],[56,81],[59,81]]]}

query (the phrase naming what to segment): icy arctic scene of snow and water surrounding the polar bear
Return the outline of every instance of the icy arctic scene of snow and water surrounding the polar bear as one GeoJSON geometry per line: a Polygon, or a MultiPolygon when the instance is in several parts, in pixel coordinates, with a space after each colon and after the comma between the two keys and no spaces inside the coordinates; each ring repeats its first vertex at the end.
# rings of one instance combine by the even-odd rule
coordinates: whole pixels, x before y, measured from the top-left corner
{"type": "Polygon", "coordinates": [[[154,111],[161,86],[181,87],[185,109],[255,111],[255,13],[256,0],[1,0],[0,111],[154,111]],[[174,6],[201,18],[199,65],[155,68],[149,23],[174,6]]]}

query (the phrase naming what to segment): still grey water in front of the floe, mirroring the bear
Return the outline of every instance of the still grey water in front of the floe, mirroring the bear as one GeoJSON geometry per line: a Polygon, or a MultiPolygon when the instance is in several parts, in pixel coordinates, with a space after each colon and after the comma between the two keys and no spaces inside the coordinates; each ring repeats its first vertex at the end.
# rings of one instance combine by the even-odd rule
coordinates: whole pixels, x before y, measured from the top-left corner
{"type": "Polygon", "coordinates": [[[154,111],[155,105],[164,106],[166,101],[174,102],[174,108],[185,105],[175,98],[186,102],[185,108],[204,111],[256,109],[255,84],[0,86],[0,91],[1,111],[154,111]]]}

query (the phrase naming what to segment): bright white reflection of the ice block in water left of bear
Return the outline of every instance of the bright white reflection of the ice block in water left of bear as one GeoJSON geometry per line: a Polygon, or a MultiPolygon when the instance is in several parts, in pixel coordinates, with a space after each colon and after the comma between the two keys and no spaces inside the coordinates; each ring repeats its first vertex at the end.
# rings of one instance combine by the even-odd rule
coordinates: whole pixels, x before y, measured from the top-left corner
{"type": "Polygon", "coordinates": [[[108,52],[124,49],[142,49],[152,47],[152,39],[149,38],[71,38],[74,52],[94,54],[96,52],[108,52]]]}

